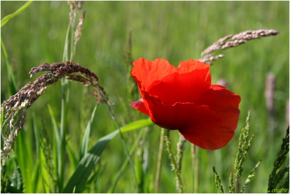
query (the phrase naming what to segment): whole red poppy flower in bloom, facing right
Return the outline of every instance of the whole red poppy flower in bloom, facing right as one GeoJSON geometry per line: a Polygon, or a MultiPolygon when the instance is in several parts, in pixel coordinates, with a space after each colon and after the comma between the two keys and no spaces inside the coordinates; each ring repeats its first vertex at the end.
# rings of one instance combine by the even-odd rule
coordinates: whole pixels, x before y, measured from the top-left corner
{"type": "Polygon", "coordinates": [[[210,65],[191,59],[175,68],[164,59],[140,58],[133,66],[131,75],[142,98],[130,106],[206,150],[220,149],[232,139],[241,98],[211,85],[210,65]]]}

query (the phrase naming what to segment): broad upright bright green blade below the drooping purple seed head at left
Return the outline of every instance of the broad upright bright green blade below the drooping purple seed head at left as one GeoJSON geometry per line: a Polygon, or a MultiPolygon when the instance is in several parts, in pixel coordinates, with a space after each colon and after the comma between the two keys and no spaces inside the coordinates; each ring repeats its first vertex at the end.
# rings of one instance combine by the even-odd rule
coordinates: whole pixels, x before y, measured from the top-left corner
{"type": "Polygon", "coordinates": [[[25,130],[18,133],[15,141],[15,157],[23,177],[25,193],[32,193],[31,174],[33,170],[32,155],[28,155],[25,130]]]}

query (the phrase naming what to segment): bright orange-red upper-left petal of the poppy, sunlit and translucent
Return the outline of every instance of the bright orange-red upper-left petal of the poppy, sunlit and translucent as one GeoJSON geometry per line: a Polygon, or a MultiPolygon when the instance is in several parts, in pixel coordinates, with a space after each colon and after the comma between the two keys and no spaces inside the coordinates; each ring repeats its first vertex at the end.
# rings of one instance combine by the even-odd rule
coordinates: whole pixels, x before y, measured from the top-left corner
{"type": "Polygon", "coordinates": [[[151,62],[140,58],[133,62],[133,66],[131,75],[142,90],[147,90],[147,87],[150,86],[153,81],[160,80],[166,72],[175,69],[175,67],[170,65],[165,59],[155,59],[151,62]]]}

